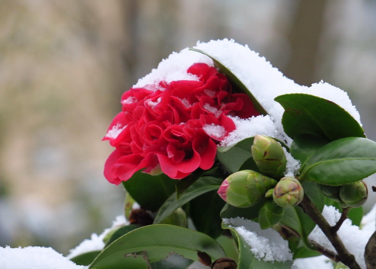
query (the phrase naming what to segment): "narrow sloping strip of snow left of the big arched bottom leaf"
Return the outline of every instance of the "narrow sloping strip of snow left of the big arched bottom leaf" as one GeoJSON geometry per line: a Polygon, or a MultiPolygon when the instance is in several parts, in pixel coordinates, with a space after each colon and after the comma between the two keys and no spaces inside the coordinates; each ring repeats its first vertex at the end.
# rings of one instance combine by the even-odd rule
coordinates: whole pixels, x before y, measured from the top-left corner
{"type": "Polygon", "coordinates": [[[115,221],[112,222],[111,228],[105,229],[100,235],[92,233],[90,239],[83,240],[78,246],[71,249],[67,258],[70,259],[86,252],[103,250],[103,247],[105,246],[103,238],[106,234],[108,234],[113,228],[123,225],[129,225],[129,221],[127,221],[124,215],[117,216],[115,221]]]}

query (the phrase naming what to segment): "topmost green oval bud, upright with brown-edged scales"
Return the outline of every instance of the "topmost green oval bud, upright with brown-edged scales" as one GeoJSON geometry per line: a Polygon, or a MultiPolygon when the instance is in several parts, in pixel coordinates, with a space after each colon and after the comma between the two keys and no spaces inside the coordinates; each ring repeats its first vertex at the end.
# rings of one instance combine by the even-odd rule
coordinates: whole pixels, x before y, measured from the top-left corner
{"type": "Polygon", "coordinates": [[[256,135],[251,150],[262,174],[275,178],[283,176],[287,160],[281,144],[268,136],[256,135]]]}

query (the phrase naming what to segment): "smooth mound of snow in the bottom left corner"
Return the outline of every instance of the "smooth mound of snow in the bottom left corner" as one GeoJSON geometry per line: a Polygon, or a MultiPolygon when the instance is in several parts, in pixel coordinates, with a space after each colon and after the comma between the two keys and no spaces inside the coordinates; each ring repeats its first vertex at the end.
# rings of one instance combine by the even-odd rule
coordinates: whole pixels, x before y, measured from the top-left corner
{"type": "Polygon", "coordinates": [[[2,269],[85,269],[76,265],[52,248],[28,246],[26,248],[0,247],[2,269]]]}

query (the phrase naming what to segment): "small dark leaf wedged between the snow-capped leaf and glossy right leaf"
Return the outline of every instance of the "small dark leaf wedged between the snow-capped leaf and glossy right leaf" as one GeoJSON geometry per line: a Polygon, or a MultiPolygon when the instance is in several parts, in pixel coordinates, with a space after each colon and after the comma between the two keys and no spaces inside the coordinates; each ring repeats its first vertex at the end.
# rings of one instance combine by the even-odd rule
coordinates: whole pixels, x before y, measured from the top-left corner
{"type": "Polygon", "coordinates": [[[328,144],[329,141],[315,135],[298,135],[291,143],[290,153],[296,160],[300,160],[302,164],[300,171],[304,168],[306,162],[311,156],[322,146],[328,144]]]}

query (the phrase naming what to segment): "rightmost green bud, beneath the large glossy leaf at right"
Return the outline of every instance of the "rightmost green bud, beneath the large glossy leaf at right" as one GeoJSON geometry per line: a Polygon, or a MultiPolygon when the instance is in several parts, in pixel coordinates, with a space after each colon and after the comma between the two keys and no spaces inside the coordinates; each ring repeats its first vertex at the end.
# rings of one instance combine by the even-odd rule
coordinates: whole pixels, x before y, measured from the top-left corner
{"type": "Polygon", "coordinates": [[[361,207],[368,197],[367,184],[359,180],[350,184],[344,184],[340,189],[340,198],[350,207],[361,207]]]}

